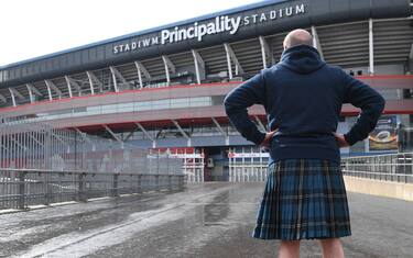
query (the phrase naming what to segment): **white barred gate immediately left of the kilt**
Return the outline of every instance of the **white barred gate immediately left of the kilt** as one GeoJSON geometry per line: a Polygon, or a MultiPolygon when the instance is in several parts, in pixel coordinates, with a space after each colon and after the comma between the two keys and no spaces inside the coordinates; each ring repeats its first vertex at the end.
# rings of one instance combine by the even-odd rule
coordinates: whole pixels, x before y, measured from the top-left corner
{"type": "Polygon", "coordinates": [[[267,180],[269,154],[254,148],[231,148],[228,152],[230,182],[259,182],[267,180]]]}

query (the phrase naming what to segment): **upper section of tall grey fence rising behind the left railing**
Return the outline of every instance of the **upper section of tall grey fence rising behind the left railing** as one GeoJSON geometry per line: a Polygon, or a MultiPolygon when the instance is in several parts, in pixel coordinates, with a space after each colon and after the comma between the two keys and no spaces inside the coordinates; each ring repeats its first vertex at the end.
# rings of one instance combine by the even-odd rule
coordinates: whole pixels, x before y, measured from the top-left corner
{"type": "Polygon", "coordinates": [[[151,169],[146,162],[153,161],[132,145],[19,121],[0,124],[0,168],[129,172],[151,169]]]}

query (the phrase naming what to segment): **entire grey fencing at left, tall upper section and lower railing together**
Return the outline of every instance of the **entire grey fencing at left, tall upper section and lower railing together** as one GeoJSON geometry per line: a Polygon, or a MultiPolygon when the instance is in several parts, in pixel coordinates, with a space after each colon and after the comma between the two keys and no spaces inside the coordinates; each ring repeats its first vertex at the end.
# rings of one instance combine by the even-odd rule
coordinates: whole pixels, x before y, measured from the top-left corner
{"type": "Polygon", "coordinates": [[[182,159],[42,123],[0,124],[0,209],[182,189],[182,159]]]}

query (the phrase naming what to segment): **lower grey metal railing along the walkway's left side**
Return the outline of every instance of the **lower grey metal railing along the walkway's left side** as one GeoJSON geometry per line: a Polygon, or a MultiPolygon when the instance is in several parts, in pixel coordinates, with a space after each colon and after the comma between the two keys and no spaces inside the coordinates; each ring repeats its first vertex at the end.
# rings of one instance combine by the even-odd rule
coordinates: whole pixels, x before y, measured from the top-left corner
{"type": "Polygon", "coordinates": [[[182,190],[176,173],[0,169],[0,210],[160,190],[182,190]]]}

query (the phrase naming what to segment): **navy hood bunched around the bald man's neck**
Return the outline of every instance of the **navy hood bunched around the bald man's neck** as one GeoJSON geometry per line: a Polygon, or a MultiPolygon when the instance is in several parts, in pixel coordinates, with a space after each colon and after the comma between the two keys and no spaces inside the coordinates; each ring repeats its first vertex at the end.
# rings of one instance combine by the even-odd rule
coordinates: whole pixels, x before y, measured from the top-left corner
{"type": "Polygon", "coordinates": [[[280,65],[298,74],[311,74],[325,66],[326,63],[322,60],[316,48],[297,45],[283,52],[280,65]]]}

